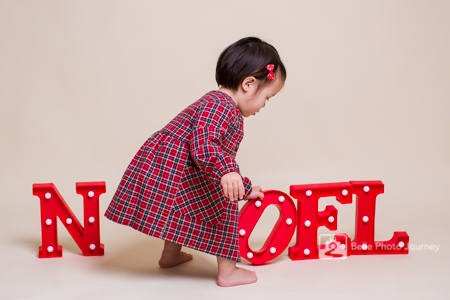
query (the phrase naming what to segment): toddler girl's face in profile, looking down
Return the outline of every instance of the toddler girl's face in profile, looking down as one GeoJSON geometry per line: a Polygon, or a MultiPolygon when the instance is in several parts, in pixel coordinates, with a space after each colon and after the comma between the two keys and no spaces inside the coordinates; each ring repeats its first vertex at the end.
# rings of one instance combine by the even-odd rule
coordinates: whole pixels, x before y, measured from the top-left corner
{"type": "MultiPolygon", "coordinates": [[[[277,74],[279,75],[279,74],[277,74]]],[[[284,81],[280,79],[281,76],[275,76],[273,82],[258,90],[258,80],[249,77],[250,80],[244,80],[242,85],[241,97],[237,99],[237,106],[241,111],[243,117],[255,115],[261,108],[266,105],[266,101],[275,96],[284,85],[284,81]],[[252,80],[252,78],[254,80],[252,80]]]]}

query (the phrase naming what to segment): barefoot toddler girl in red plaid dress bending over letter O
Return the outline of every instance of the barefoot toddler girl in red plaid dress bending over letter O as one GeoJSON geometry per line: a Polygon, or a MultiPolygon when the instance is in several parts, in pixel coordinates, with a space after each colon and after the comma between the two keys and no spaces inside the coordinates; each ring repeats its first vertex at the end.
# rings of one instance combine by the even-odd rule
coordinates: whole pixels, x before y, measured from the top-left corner
{"type": "Polygon", "coordinates": [[[211,91],[154,133],[128,166],[105,216],[165,240],[163,268],[192,259],[189,247],[217,256],[217,283],[256,282],[240,261],[237,200],[263,198],[235,161],[243,117],[255,115],[284,85],[276,49],[248,37],[226,48],[211,91]]]}

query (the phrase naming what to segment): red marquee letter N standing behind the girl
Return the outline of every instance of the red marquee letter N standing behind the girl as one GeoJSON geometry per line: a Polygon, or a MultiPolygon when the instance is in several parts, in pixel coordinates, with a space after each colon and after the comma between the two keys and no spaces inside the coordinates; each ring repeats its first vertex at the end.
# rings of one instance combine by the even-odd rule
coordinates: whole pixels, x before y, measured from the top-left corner
{"type": "Polygon", "coordinates": [[[62,256],[62,246],[58,245],[56,216],[83,255],[104,254],[103,244],[100,244],[98,201],[100,194],[106,192],[105,182],[78,182],[76,191],[84,199],[84,228],[53,183],[33,184],[33,195],[41,200],[42,246],[39,247],[39,258],[62,256]]]}

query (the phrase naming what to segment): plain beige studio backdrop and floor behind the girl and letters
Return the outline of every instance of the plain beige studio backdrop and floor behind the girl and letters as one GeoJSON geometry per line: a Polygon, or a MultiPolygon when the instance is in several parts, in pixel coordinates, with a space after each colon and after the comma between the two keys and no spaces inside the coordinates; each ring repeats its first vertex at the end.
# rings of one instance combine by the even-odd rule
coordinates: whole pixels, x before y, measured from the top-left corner
{"type": "MultiPolygon", "coordinates": [[[[0,0],[1,299],[438,299],[448,295],[450,2],[0,0]],[[106,181],[101,212],[141,144],[216,89],[215,63],[245,36],[272,43],[284,89],[245,120],[242,173],[264,189],[382,180],[376,239],[405,256],[291,261],[215,284],[215,258],[157,267],[160,240],[101,220],[105,256],[38,259],[39,199],[53,182],[82,219],[75,182],[106,181]],[[427,250],[439,245],[439,250],[427,250]],[[447,287],[446,287],[447,286],[447,287]]],[[[354,204],[338,231],[354,235],[354,204]]],[[[258,249],[276,220],[263,215],[258,249]]],[[[328,232],[321,228],[321,233],[328,232]]],[[[291,245],[295,243],[292,239],[291,245]]],[[[248,264],[246,261],[243,264],[248,264]]]]}

